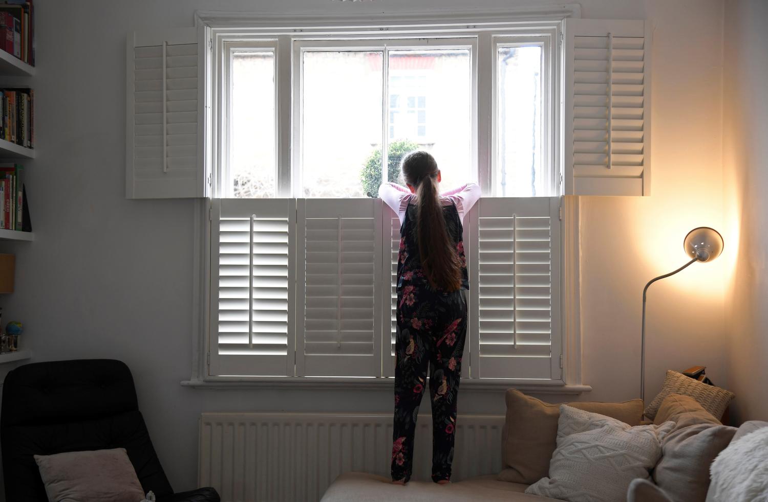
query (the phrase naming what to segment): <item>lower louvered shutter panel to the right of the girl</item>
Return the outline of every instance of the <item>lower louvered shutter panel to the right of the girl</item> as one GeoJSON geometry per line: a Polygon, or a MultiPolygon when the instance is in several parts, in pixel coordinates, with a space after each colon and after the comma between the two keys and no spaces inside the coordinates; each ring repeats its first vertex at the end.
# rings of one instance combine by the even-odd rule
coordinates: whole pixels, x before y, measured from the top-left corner
{"type": "Polygon", "coordinates": [[[561,379],[559,208],[535,197],[473,209],[472,378],[561,379]]]}

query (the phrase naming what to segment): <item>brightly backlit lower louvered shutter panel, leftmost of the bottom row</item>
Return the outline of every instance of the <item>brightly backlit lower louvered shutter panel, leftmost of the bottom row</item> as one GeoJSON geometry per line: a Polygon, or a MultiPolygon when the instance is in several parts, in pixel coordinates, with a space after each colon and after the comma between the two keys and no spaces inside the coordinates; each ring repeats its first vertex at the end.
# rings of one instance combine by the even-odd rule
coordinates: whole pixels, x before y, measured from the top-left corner
{"type": "Polygon", "coordinates": [[[296,199],[214,199],[210,376],[294,376],[296,199]]]}

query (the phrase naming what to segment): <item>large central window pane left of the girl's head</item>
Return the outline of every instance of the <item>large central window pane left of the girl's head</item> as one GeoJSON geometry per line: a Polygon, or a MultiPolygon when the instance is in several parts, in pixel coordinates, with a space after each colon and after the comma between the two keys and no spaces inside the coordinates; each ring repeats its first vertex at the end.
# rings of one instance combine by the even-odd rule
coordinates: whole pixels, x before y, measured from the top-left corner
{"type": "Polygon", "coordinates": [[[382,53],[302,54],[305,197],[375,197],[381,182],[382,53]]]}

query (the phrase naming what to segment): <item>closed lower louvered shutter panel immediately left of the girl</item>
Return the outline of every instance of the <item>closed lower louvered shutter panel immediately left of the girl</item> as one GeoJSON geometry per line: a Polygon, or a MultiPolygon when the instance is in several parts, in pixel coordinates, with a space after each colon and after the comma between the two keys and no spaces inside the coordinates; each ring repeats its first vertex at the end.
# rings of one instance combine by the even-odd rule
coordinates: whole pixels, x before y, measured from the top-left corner
{"type": "Polygon", "coordinates": [[[382,203],[299,199],[301,376],[381,376],[382,203]]]}

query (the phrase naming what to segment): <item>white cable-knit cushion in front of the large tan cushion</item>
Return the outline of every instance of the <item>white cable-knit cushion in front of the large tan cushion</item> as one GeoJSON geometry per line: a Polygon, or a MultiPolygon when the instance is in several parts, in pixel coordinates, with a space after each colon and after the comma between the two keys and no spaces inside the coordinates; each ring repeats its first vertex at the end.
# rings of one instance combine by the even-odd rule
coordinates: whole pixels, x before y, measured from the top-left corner
{"type": "Polygon", "coordinates": [[[661,457],[661,439],[673,428],[674,422],[631,427],[562,405],[549,477],[525,493],[571,502],[627,500],[627,487],[637,477],[649,477],[661,457]]]}

